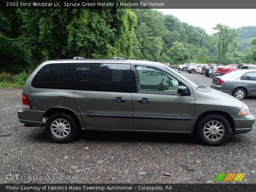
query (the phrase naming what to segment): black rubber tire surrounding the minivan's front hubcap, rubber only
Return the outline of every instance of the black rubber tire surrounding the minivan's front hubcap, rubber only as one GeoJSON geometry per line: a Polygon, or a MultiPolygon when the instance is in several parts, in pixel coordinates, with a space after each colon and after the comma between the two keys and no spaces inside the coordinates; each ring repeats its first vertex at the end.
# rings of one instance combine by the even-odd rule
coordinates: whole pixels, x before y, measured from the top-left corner
{"type": "MultiPolygon", "coordinates": [[[[212,125],[211,123],[209,123],[210,125],[212,125]]],[[[215,127],[216,128],[216,127],[215,127]]],[[[228,120],[226,120],[226,118],[220,116],[220,115],[208,115],[204,118],[202,118],[195,126],[195,130],[194,130],[194,136],[196,136],[196,138],[198,139],[198,141],[200,141],[202,144],[205,145],[209,145],[209,146],[218,146],[224,142],[226,142],[226,140],[228,140],[229,136],[231,133],[231,128],[230,128],[230,124],[228,122],[228,120]],[[217,139],[216,136],[214,136],[212,134],[212,138],[211,137],[211,133],[206,133],[206,136],[209,136],[209,139],[206,138],[206,136],[204,136],[204,130],[208,130],[208,128],[210,128],[209,126],[207,126],[206,124],[208,122],[214,121],[216,122],[217,126],[222,125],[222,127],[220,129],[224,130],[224,132],[220,131],[219,133],[222,134],[222,137],[220,137],[219,135],[219,140],[210,140],[210,139],[217,139]],[[217,124],[217,122],[220,122],[217,124]],[[206,126],[206,128],[205,128],[206,126]]]]}

